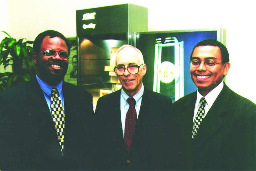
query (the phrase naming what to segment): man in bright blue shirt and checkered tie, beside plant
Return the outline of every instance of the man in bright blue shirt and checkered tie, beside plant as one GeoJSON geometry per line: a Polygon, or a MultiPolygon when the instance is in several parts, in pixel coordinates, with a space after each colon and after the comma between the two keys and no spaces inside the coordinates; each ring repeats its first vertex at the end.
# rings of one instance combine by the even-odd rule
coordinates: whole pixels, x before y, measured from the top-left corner
{"type": "Polygon", "coordinates": [[[0,169],[90,169],[92,95],[63,80],[69,53],[63,34],[40,33],[36,76],[1,94],[0,169]]]}

